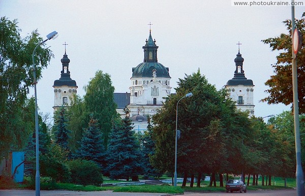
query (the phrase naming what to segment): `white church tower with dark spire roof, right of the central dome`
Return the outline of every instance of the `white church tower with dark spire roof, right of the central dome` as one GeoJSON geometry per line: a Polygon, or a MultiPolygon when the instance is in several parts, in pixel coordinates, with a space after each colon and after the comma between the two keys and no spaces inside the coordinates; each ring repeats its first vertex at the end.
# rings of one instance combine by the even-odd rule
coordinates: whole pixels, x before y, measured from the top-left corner
{"type": "MultiPolygon", "coordinates": [[[[239,44],[239,43],[238,43],[239,44]]],[[[249,117],[254,115],[253,104],[253,81],[245,77],[243,71],[243,58],[239,53],[234,59],[235,72],[234,77],[227,82],[225,88],[228,90],[229,96],[236,102],[236,108],[241,111],[248,111],[249,117]]]]}

